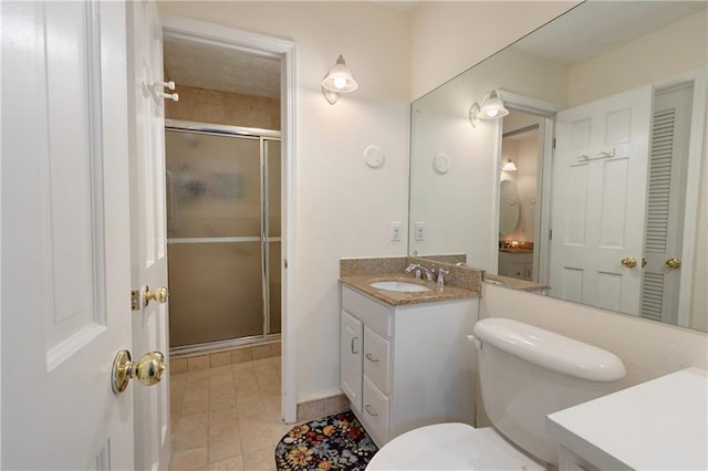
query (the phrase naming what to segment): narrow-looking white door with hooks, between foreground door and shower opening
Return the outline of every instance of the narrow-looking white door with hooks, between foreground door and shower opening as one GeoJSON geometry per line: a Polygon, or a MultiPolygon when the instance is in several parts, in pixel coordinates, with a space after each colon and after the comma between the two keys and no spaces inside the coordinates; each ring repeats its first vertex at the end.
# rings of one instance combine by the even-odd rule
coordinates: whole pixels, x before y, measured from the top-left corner
{"type": "MultiPolygon", "coordinates": [[[[139,293],[133,311],[133,348],[169,355],[167,302],[145,303],[145,292],[167,287],[165,216],[165,114],[163,30],[152,1],[128,2],[131,100],[132,290],[139,293]]],[[[167,90],[169,92],[169,90],[167,90]]],[[[135,391],[135,469],[169,467],[169,375],[162,384],[135,391]]]]}

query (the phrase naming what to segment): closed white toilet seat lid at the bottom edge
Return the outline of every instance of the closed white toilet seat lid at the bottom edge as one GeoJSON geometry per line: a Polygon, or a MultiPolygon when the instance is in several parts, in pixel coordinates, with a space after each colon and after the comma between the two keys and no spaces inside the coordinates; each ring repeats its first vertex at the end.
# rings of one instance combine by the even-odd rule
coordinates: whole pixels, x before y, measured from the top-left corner
{"type": "Polygon", "coordinates": [[[386,443],[367,471],[393,470],[544,470],[494,429],[437,423],[403,433],[386,443]]]}

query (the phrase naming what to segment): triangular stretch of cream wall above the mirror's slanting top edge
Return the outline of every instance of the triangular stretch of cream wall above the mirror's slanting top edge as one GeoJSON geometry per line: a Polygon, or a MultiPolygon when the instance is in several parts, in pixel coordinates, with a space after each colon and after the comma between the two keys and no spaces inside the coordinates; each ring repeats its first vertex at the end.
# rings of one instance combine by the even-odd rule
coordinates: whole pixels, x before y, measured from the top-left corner
{"type": "Polygon", "coordinates": [[[413,12],[413,98],[442,85],[577,3],[421,2],[413,12]]]}

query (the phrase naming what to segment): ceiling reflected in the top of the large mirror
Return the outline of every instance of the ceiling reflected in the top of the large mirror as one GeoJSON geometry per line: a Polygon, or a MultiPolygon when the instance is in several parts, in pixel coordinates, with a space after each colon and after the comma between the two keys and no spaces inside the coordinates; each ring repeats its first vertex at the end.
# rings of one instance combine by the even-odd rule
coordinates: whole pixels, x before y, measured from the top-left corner
{"type": "Polygon", "coordinates": [[[706,1],[587,1],[513,45],[513,49],[574,64],[705,11],[706,1]],[[558,38],[564,38],[558,41],[558,38]]]}

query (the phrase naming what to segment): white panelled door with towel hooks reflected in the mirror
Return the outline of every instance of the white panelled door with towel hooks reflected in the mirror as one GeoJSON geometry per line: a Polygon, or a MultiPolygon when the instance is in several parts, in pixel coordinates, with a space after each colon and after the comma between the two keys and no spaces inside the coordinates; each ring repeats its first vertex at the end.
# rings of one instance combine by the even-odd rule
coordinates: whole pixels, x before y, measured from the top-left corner
{"type": "Polygon", "coordinates": [[[552,296],[639,313],[652,94],[641,87],[558,114],[552,296]]]}

